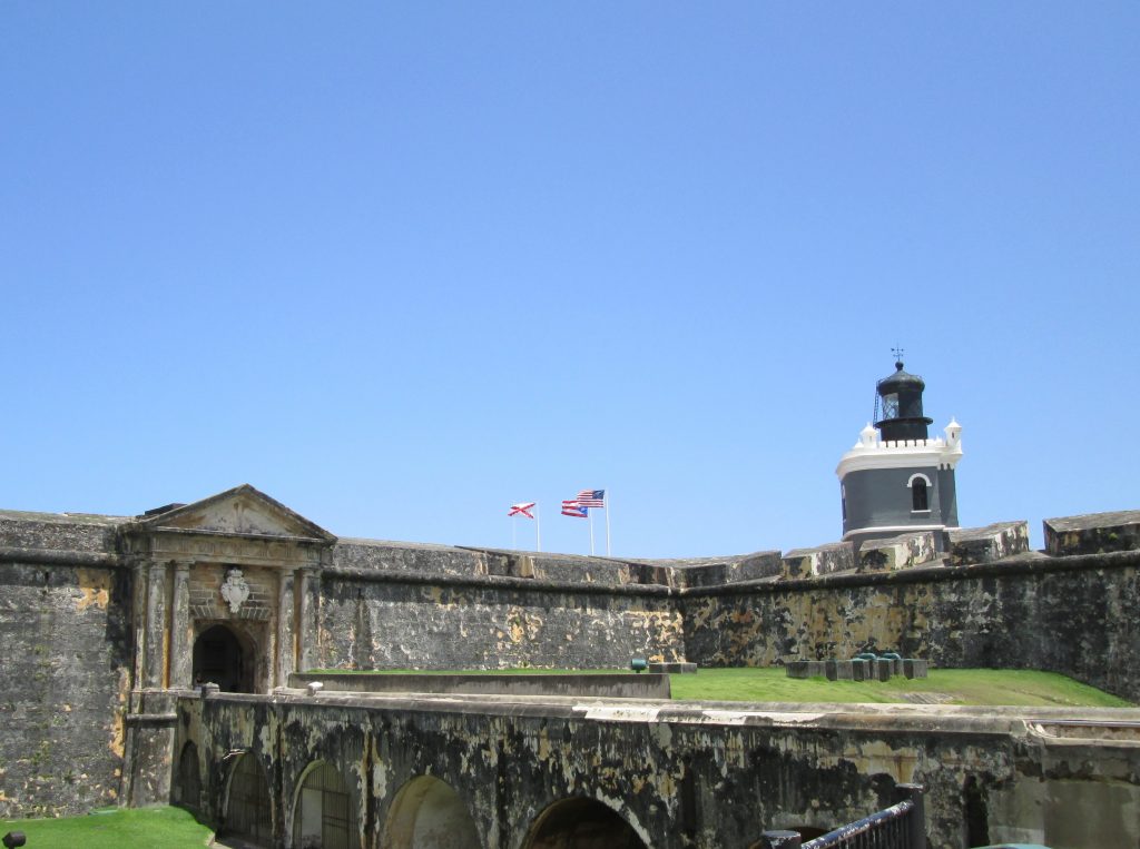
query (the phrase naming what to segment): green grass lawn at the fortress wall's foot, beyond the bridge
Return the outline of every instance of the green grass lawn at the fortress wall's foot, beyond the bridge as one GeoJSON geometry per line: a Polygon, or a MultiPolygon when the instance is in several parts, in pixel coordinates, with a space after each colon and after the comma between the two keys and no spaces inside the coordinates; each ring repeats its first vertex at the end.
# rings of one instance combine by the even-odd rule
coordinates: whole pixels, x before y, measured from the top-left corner
{"type": "MultiPolygon", "coordinates": [[[[350,670],[327,669],[327,672],[350,670]]],[[[565,675],[565,669],[377,670],[376,675],[565,675]]],[[[583,669],[580,672],[628,672],[628,669],[583,669]]],[[[361,671],[361,675],[367,672],[361,671]]],[[[938,704],[1004,704],[1057,708],[1131,708],[1117,696],[1056,672],[1026,669],[931,669],[929,678],[889,681],[829,681],[789,678],[782,667],[701,669],[673,675],[673,697],[725,702],[870,702],[928,701],[938,704]],[[909,699],[909,694],[922,694],[909,699]]]]}

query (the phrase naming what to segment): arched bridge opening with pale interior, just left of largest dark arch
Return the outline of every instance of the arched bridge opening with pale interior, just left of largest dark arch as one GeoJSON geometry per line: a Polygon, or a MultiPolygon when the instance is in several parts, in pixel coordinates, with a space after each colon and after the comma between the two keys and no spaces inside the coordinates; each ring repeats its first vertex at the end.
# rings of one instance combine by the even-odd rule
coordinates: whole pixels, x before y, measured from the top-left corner
{"type": "Polygon", "coordinates": [[[475,821],[447,782],[421,775],[392,800],[382,849],[481,849],[475,821]]]}

